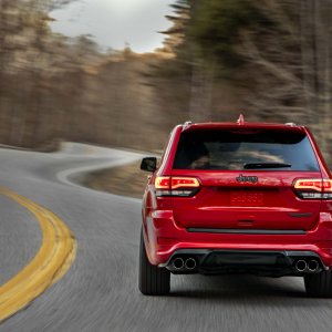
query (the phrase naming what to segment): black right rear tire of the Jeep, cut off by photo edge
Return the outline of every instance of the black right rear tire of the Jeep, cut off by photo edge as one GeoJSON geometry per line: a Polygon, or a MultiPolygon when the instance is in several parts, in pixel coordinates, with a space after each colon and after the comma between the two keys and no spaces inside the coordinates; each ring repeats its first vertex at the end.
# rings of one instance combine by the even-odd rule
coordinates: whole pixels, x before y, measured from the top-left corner
{"type": "Polygon", "coordinates": [[[332,298],[331,271],[304,276],[304,286],[308,295],[314,298],[332,298]]]}

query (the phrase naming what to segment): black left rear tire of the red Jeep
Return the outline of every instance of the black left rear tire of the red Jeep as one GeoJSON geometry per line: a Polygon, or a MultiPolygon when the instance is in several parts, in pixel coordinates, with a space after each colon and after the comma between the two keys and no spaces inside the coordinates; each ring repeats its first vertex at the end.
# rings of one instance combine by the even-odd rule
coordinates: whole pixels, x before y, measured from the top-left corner
{"type": "Polygon", "coordinates": [[[167,295],[170,290],[170,272],[149,263],[141,232],[138,288],[145,295],[167,295]]]}

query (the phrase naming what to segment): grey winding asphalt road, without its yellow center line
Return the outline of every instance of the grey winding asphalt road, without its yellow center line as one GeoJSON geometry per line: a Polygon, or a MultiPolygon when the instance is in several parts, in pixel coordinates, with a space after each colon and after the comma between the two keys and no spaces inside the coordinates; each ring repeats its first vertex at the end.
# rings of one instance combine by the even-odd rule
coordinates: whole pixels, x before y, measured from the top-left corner
{"type": "MultiPolygon", "coordinates": [[[[84,145],[0,149],[0,185],[55,212],[79,245],[69,272],[0,331],[332,331],[332,300],[305,298],[300,278],[176,276],[172,295],[142,295],[141,201],[72,183],[79,172],[139,157],[84,145]]],[[[41,235],[15,203],[1,197],[0,209],[2,283],[33,257],[41,235]]]]}

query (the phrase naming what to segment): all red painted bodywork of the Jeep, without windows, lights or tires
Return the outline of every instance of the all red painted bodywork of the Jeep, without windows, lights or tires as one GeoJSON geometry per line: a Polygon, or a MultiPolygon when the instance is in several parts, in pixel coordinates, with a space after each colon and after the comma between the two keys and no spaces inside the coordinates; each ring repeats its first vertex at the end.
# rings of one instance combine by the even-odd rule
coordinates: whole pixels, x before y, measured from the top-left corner
{"type": "Polygon", "coordinates": [[[301,199],[293,190],[297,178],[331,178],[311,133],[281,124],[208,123],[177,126],[170,134],[160,167],[149,178],[143,199],[143,229],[151,263],[165,263],[177,249],[309,250],[332,267],[332,200],[301,199]],[[183,131],[227,128],[250,132],[273,128],[305,133],[320,172],[250,170],[258,184],[239,184],[239,170],[175,170],[173,163],[183,131]],[[194,197],[157,197],[156,176],[197,177],[201,188],[194,197]],[[221,176],[222,175],[222,176],[221,176]],[[301,217],[293,217],[299,214],[301,217]],[[220,217],[222,216],[222,217],[220,217]],[[302,235],[190,232],[188,227],[304,230],[302,235]]]}

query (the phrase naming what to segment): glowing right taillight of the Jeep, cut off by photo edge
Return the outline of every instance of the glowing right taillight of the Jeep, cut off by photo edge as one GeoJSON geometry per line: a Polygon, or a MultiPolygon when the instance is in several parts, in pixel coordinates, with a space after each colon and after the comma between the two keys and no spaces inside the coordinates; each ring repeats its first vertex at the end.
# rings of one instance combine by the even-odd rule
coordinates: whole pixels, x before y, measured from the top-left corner
{"type": "Polygon", "coordinates": [[[332,199],[332,180],[301,178],[294,183],[294,190],[304,199],[332,199]]]}

